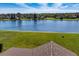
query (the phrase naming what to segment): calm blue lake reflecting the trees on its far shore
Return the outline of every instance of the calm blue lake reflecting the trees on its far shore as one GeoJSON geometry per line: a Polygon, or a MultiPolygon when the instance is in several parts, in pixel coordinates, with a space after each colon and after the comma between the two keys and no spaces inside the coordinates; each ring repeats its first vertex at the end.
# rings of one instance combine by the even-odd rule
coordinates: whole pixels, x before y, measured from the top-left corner
{"type": "Polygon", "coordinates": [[[79,21],[53,21],[53,20],[0,21],[0,30],[79,32],[79,21]]]}

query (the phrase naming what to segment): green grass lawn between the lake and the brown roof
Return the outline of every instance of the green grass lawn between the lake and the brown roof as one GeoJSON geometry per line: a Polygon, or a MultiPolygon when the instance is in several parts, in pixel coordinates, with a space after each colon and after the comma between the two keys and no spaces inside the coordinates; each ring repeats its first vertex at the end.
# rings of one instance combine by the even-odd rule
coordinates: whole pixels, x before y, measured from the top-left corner
{"type": "Polygon", "coordinates": [[[3,51],[11,47],[34,48],[50,40],[79,55],[79,34],[76,33],[0,31],[0,43],[3,44],[3,51]]]}

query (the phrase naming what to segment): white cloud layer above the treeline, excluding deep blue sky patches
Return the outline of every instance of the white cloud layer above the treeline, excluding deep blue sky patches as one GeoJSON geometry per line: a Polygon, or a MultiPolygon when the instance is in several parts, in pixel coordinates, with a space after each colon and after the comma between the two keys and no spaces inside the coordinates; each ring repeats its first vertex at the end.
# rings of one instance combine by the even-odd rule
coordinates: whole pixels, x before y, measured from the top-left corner
{"type": "Polygon", "coordinates": [[[3,8],[0,9],[0,13],[69,13],[69,12],[79,12],[79,4],[66,4],[63,3],[53,3],[51,7],[48,3],[38,3],[39,8],[30,7],[25,3],[16,3],[21,6],[21,8],[3,8]],[[71,6],[70,6],[71,5],[71,6]]]}

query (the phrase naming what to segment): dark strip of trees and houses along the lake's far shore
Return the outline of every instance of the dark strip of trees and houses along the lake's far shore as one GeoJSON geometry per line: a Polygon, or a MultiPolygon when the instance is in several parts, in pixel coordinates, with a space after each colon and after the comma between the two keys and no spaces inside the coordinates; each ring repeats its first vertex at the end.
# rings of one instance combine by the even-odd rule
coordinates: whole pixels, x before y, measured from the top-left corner
{"type": "Polygon", "coordinates": [[[45,19],[45,18],[79,18],[79,13],[11,13],[11,14],[0,14],[0,20],[10,19],[10,20],[21,20],[21,19],[45,19]]]}

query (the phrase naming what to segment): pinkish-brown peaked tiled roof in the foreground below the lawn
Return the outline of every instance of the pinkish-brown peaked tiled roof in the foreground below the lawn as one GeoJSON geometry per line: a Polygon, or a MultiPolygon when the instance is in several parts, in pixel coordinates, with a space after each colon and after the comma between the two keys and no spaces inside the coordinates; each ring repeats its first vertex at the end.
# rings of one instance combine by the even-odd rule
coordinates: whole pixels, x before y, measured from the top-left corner
{"type": "Polygon", "coordinates": [[[10,48],[1,56],[77,56],[75,53],[54,43],[53,41],[37,48],[10,48]]]}

